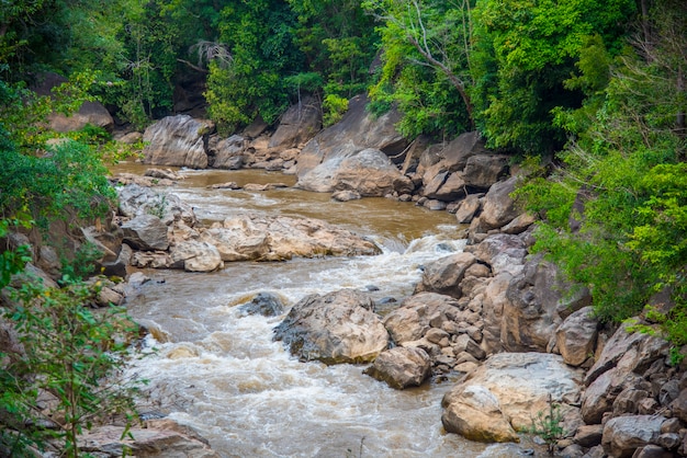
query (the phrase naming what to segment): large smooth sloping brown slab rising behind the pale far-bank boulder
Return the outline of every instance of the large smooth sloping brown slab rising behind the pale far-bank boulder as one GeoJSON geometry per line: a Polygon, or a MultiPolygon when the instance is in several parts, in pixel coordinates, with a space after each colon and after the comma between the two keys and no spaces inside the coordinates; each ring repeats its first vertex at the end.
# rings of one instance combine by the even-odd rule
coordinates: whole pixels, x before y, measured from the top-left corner
{"type": "Polygon", "coordinates": [[[407,141],[395,127],[401,119],[398,112],[392,110],[375,117],[365,110],[368,102],[365,95],[351,99],[344,118],[318,133],[303,147],[296,164],[299,181],[325,161],[341,160],[363,149],[379,149],[387,156],[396,156],[404,150],[407,141]]]}

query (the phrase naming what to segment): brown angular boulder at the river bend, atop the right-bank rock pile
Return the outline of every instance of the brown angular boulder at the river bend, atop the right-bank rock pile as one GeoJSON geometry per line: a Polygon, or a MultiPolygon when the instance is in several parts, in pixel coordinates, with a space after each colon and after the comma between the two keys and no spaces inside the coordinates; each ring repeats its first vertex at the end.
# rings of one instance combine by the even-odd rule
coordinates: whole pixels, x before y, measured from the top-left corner
{"type": "Polygon", "coordinates": [[[427,263],[415,293],[430,291],[460,298],[463,295],[460,284],[468,268],[476,262],[472,253],[455,253],[427,263]]]}

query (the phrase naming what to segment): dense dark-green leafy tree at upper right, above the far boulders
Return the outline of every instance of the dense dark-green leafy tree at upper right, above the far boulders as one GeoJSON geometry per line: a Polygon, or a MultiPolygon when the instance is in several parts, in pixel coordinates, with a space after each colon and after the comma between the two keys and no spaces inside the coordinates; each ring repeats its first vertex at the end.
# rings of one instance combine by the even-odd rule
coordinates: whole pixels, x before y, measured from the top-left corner
{"type": "Polygon", "coordinates": [[[592,50],[617,54],[634,8],[632,0],[478,1],[472,94],[489,144],[529,154],[561,148],[565,131],[552,113],[579,108],[584,90],[602,84],[608,59],[593,60],[592,50]]]}

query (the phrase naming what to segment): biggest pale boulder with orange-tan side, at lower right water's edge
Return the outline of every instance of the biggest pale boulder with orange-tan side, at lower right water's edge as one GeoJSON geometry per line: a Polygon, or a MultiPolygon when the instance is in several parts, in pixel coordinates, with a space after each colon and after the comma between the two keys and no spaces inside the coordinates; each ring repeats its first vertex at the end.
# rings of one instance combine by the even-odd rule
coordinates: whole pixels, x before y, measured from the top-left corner
{"type": "Polygon", "coordinates": [[[582,373],[559,355],[500,353],[446,394],[441,421],[447,431],[482,442],[517,442],[516,431],[531,426],[549,399],[562,410],[579,401],[582,373]]]}

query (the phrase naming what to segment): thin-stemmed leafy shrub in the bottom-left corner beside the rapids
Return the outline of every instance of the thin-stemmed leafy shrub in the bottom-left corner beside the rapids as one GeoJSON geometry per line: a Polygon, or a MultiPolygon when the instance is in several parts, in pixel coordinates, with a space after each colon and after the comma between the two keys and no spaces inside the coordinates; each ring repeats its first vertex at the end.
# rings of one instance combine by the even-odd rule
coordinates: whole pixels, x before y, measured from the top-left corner
{"type": "Polygon", "coordinates": [[[46,288],[30,282],[16,291],[13,306],[0,308],[23,344],[23,353],[4,355],[0,377],[0,409],[10,415],[5,426],[14,430],[3,428],[0,446],[10,455],[52,437],[61,440],[61,456],[78,457],[83,430],[106,415],[133,411],[136,386],[117,378],[126,343],[115,339],[135,329],[121,308],[90,308],[99,288],[98,283],[46,288]],[[50,419],[37,404],[43,391],[57,400],[50,419]],[[41,428],[47,420],[59,427],[41,428]]]}

